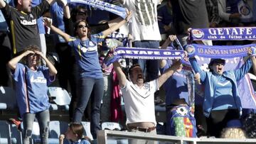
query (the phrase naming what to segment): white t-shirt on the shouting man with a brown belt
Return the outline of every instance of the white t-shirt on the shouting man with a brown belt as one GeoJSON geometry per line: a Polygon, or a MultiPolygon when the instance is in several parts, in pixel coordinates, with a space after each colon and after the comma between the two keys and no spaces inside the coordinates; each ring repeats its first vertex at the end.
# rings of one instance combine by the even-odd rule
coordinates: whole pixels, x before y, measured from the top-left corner
{"type": "Polygon", "coordinates": [[[154,92],[159,90],[158,80],[146,82],[142,88],[127,80],[121,91],[127,123],[151,122],[156,126],[154,92]]]}

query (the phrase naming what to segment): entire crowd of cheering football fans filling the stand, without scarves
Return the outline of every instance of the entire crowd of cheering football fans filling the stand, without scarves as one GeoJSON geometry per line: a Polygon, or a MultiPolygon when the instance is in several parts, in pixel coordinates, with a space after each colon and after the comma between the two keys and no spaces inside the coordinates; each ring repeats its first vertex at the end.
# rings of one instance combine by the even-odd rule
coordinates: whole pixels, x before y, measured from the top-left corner
{"type": "Polygon", "coordinates": [[[23,143],[29,143],[35,118],[41,143],[48,143],[50,86],[62,87],[71,96],[70,125],[60,135],[60,143],[97,142],[100,123],[111,121],[120,123],[126,131],[159,133],[156,105],[166,109],[164,135],[256,138],[255,124],[248,124],[255,121],[256,104],[244,107],[241,101],[245,97],[240,94],[245,89],[238,87],[248,72],[256,74],[254,49],[247,48],[244,63],[233,70],[226,70],[230,63],[218,55],[206,67],[198,65],[199,58],[185,49],[192,43],[255,43],[193,41],[189,31],[254,28],[256,1],[98,1],[125,8],[124,18],[72,0],[0,0],[0,85],[16,91],[16,121],[23,121],[23,143]],[[183,60],[121,59],[106,65],[118,47],[171,48],[184,50],[185,56],[183,60]],[[93,142],[82,135],[83,120],[90,121],[93,142]]]}

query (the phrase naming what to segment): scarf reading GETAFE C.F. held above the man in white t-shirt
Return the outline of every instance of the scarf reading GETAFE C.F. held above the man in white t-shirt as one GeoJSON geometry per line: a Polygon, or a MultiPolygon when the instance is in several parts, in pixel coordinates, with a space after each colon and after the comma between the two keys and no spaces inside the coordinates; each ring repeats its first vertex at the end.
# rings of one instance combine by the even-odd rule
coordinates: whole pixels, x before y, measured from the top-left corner
{"type": "Polygon", "coordinates": [[[105,65],[120,58],[145,59],[145,60],[174,60],[181,59],[184,56],[183,50],[163,50],[152,48],[124,48],[119,47],[114,52],[108,52],[104,59],[105,65]]]}

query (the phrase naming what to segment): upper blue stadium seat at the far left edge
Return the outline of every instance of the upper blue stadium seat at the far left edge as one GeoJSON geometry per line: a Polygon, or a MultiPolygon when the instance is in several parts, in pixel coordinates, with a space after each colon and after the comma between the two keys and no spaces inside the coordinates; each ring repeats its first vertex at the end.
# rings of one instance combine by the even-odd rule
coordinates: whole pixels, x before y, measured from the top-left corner
{"type": "Polygon", "coordinates": [[[16,109],[15,91],[11,87],[0,87],[0,109],[16,109]]]}

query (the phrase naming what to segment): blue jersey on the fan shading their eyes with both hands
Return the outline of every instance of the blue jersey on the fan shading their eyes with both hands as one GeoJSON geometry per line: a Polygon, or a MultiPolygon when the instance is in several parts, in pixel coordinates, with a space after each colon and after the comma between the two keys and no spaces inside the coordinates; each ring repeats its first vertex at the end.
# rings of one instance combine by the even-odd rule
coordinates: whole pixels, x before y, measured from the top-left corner
{"type": "Polygon", "coordinates": [[[18,63],[13,77],[16,82],[16,99],[21,116],[23,113],[37,113],[49,109],[48,85],[54,81],[55,77],[50,77],[48,67],[37,67],[37,70],[33,71],[26,65],[18,63]]]}

